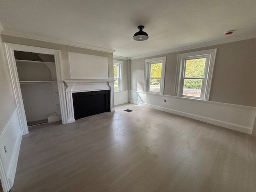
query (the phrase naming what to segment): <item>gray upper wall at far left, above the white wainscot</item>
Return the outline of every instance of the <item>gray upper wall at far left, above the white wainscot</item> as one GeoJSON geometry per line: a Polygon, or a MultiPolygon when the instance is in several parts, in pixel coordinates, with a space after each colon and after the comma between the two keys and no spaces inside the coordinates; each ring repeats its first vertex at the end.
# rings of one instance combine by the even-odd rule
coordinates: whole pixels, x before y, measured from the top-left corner
{"type": "Polygon", "coordinates": [[[12,95],[10,78],[6,67],[2,39],[0,37],[0,134],[4,126],[8,122],[12,112],[14,112],[15,104],[12,95]]]}

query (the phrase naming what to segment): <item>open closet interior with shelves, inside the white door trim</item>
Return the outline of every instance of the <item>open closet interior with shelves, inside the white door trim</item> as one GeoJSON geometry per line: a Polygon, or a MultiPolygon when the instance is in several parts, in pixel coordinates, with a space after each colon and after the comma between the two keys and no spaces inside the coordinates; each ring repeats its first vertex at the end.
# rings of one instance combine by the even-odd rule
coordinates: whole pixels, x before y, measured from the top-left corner
{"type": "Polygon", "coordinates": [[[54,55],[14,51],[14,56],[28,126],[60,121],[54,55]]]}

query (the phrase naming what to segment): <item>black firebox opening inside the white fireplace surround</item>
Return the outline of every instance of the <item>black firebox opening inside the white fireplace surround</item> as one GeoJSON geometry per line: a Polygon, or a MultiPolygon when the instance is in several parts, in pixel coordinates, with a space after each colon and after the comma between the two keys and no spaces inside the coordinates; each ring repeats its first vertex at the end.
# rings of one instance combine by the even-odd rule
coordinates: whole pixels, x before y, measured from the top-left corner
{"type": "Polygon", "coordinates": [[[72,93],[75,120],[110,111],[110,91],[72,93]]]}

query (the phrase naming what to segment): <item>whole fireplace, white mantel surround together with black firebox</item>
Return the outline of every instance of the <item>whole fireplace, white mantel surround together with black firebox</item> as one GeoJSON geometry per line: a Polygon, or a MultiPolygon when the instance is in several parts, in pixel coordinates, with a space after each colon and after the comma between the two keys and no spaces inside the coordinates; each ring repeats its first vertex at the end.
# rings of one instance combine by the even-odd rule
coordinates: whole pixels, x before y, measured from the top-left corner
{"type": "Polygon", "coordinates": [[[68,123],[85,116],[106,111],[114,112],[114,80],[85,79],[64,80],[66,83],[66,104],[68,123]],[[92,97],[95,98],[92,98],[92,97]],[[90,97],[89,102],[86,99],[90,97]],[[98,105],[101,105],[99,109],[98,105]],[[78,107],[76,107],[78,106],[78,107]],[[85,112],[91,110],[91,114],[85,112]],[[78,113],[80,111],[80,114],[78,113]]]}

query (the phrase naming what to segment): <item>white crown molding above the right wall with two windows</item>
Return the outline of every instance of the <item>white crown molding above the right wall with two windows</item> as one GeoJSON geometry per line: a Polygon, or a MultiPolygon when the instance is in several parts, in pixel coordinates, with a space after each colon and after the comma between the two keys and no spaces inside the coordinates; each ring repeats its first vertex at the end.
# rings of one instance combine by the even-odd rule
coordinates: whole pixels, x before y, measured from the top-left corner
{"type": "Polygon", "coordinates": [[[158,55],[180,52],[180,51],[185,51],[185,50],[191,50],[191,49],[196,49],[196,48],[202,48],[202,47],[207,47],[207,46],[213,46],[213,45],[218,45],[218,44],[230,43],[230,42],[235,42],[235,41],[242,41],[242,40],[252,39],[252,38],[256,38],[256,34],[235,36],[235,37],[232,37],[232,38],[219,39],[219,40],[200,43],[200,44],[196,44],[196,45],[190,45],[190,46],[185,46],[185,47],[180,47],[180,48],[155,52],[155,53],[152,53],[152,54],[145,54],[145,55],[142,55],[142,56],[131,57],[130,60],[140,59],[140,58],[147,58],[147,57],[151,57],[151,56],[158,56],[158,55]]]}

